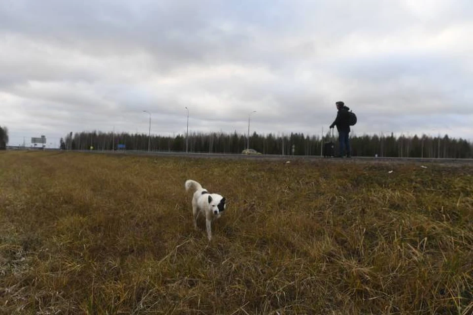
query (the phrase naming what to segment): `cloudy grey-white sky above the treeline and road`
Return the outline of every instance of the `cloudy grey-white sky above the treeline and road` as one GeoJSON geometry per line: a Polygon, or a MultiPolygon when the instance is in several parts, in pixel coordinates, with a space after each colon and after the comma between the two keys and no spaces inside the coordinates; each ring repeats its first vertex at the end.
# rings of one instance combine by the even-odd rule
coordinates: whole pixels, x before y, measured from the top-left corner
{"type": "Polygon", "coordinates": [[[1,0],[0,126],[473,140],[471,0],[1,0]]]}

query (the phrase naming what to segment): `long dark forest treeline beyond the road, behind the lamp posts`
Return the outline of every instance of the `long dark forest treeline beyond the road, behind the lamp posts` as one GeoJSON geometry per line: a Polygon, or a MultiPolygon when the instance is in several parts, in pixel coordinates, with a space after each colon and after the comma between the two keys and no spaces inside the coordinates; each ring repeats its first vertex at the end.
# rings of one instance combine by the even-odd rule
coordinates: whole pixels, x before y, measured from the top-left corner
{"type": "MultiPolygon", "coordinates": [[[[402,157],[402,158],[472,158],[472,144],[465,139],[454,139],[447,135],[418,137],[378,135],[353,135],[351,138],[353,156],[373,157],[402,157]]],[[[256,132],[250,136],[251,149],[262,154],[271,155],[321,155],[323,143],[334,141],[338,148],[337,139],[327,134],[308,136],[303,133],[282,135],[259,135],[256,132]]],[[[247,147],[247,137],[236,132],[229,133],[190,133],[186,141],[185,135],[175,137],[147,134],[104,133],[104,132],[70,132],[61,138],[61,149],[64,150],[149,150],[193,153],[241,153],[247,147]]]]}

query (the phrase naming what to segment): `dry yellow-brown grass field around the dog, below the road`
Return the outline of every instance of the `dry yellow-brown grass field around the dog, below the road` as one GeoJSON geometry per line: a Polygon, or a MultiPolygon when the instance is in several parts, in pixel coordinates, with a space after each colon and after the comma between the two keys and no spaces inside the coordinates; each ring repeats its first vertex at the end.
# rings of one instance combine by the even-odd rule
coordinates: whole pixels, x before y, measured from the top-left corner
{"type": "Polygon", "coordinates": [[[421,165],[0,153],[0,314],[472,314],[473,166],[421,165]]]}

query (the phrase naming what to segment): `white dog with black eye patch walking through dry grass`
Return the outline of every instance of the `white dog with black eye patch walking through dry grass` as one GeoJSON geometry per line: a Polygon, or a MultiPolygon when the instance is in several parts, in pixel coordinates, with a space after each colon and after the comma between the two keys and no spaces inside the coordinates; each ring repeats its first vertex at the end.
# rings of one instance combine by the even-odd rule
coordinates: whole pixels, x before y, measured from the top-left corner
{"type": "Polygon", "coordinates": [[[221,213],[225,211],[225,198],[218,193],[209,193],[201,184],[193,180],[187,180],[185,184],[186,191],[194,189],[192,197],[192,212],[194,213],[194,227],[197,229],[197,218],[199,214],[205,215],[207,223],[207,237],[212,239],[211,222],[220,218],[221,213]]]}

